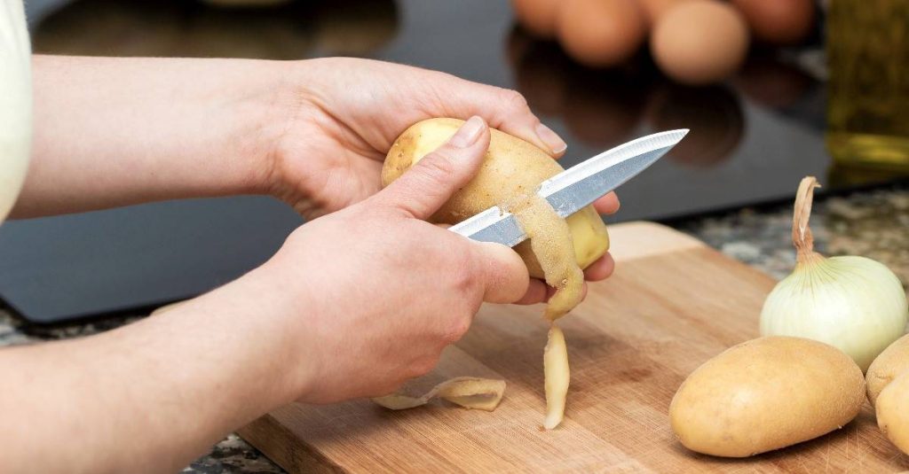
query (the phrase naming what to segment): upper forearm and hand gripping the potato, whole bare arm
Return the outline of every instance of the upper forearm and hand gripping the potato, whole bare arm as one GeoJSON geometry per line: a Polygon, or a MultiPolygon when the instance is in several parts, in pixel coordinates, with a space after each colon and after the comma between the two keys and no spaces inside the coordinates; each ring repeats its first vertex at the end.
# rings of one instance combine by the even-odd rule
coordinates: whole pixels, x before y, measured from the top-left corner
{"type": "MultiPolygon", "coordinates": [[[[39,56],[39,126],[14,214],[270,193],[312,219],[378,192],[385,153],[411,124],[474,114],[564,150],[520,94],[404,65],[39,56]]],[[[618,205],[614,193],[594,203],[618,205]]],[[[606,254],[584,274],[612,270],[606,254]]],[[[520,302],[544,301],[547,288],[532,281],[520,302]]]]}

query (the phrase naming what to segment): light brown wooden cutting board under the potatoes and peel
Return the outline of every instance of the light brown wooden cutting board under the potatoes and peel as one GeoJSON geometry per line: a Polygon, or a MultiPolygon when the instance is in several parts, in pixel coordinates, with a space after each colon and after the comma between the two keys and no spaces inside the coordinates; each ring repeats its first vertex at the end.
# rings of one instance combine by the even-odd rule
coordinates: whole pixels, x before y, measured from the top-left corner
{"type": "MultiPolygon", "coordinates": [[[[820,439],[751,459],[684,449],[669,401],[684,378],[758,335],[774,281],[680,232],[648,222],[610,227],[614,276],[590,285],[561,321],[571,360],[566,419],[542,430],[542,307],[487,305],[422,383],[460,375],[507,380],[494,412],[445,402],[393,412],[368,400],[295,404],[240,435],[290,472],[894,472],[909,469],[865,406],[820,439]]],[[[444,311],[444,310],[440,310],[444,311]]]]}

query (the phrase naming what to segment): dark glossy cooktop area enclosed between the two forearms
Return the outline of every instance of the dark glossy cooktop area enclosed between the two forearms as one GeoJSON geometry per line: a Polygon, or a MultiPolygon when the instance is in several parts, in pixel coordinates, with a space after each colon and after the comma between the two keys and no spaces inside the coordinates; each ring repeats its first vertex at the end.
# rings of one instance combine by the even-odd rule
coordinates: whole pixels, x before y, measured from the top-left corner
{"type": "Polygon", "coordinates": [[[261,197],[6,222],[0,294],[35,322],[150,309],[255,268],[301,222],[290,208],[261,197]]]}

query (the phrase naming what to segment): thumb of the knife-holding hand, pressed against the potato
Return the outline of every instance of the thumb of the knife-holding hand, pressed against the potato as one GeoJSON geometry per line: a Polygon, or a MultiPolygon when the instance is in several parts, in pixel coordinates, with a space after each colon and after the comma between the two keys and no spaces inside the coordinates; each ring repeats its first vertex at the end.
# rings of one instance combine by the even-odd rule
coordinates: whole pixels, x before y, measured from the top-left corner
{"type": "Polygon", "coordinates": [[[427,154],[375,197],[417,219],[428,219],[470,182],[488,149],[489,127],[482,118],[471,117],[447,143],[427,154]]]}

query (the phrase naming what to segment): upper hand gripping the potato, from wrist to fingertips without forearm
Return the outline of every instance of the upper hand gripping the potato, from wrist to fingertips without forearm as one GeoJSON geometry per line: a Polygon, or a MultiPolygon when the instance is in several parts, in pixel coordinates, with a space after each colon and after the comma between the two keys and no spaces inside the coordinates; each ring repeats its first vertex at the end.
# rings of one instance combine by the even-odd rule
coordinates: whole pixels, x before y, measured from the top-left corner
{"type": "MultiPolygon", "coordinates": [[[[407,127],[445,116],[478,115],[490,126],[534,143],[558,158],[565,143],[530,111],[513,90],[477,84],[450,74],[378,61],[327,58],[291,64],[285,84],[296,96],[275,115],[284,133],[268,153],[274,163],[270,189],[314,217],[344,209],[381,189],[385,153],[407,127]],[[286,117],[286,118],[281,118],[286,117]]],[[[619,202],[608,193],[594,202],[601,213],[614,213],[619,202]]],[[[608,277],[609,254],[584,272],[587,280],[608,277]]],[[[533,281],[528,298],[544,301],[553,289],[533,281]]]]}

